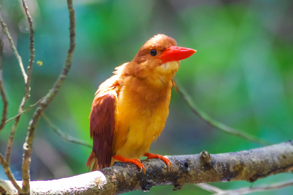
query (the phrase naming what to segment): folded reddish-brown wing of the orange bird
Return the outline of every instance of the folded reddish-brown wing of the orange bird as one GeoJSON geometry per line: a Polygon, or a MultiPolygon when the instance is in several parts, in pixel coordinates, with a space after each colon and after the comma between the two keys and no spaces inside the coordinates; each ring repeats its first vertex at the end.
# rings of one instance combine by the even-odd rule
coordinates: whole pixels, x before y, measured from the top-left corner
{"type": "Polygon", "coordinates": [[[95,160],[93,170],[110,167],[114,132],[117,128],[117,93],[119,84],[115,75],[100,85],[93,100],[90,114],[93,152],[86,164],[90,166],[95,160]]]}

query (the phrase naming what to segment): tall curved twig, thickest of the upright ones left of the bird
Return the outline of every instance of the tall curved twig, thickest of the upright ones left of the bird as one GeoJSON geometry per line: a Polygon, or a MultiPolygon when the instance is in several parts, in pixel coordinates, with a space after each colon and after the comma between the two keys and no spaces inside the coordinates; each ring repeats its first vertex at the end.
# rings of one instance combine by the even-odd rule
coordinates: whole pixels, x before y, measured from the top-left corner
{"type": "Polygon", "coordinates": [[[23,181],[23,187],[21,190],[22,194],[29,193],[30,190],[30,174],[29,174],[29,168],[30,168],[30,156],[32,153],[32,143],[34,138],[34,131],[36,128],[36,125],[38,123],[38,119],[42,112],[45,110],[45,108],[52,102],[53,98],[57,95],[61,85],[65,81],[67,74],[69,72],[69,69],[71,67],[71,62],[73,58],[73,52],[75,48],[75,18],[74,18],[74,9],[72,7],[72,0],[67,0],[68,4],[68,10],[69,10],[69,20],[70,20],[70,46],[68,50],[67,59],[65,62],[65,66],[62,70],[62,73],[59,75],[57,81],[54,83],[53,87],[47,95],[44,97],[44,99],[40,102],[39,106],[34,112],[33,118],[31,119],[28,127],[28,134],[25,140],[25,143],[23,144],[23,162],[22,162],[22,181],[23,181]]]}

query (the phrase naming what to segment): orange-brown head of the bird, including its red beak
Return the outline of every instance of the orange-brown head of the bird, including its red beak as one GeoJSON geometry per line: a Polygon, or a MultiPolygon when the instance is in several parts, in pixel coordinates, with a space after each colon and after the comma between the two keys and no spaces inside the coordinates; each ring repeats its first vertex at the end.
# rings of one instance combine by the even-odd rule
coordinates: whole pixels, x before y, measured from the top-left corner
{"type": "Polygon", "coordinates": [[[180,60],[190,57],[194,49],[177,47],[176,41],[166,35],[155,35],[138,51],[128,64],[128,72],[151,82],[168,82],[178,71],[180,60]]]}

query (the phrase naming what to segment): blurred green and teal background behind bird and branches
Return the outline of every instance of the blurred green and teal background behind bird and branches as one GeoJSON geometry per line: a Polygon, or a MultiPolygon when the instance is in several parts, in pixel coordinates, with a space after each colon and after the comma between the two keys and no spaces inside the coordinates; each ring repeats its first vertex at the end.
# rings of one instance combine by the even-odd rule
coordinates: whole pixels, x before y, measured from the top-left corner
{"type": "MultiPolygon", "coordinates": [[[[197,52],[181,62],[176,80],[207,114],[271,143],[293,139],[293,1],[98,1],[74,0],[76,49],[69,76],[45,110],[65,133],[91,143],[89,113],[96,89],[112,71],[131,61],[153,35],[163,33],[178,46],[197,52]]],[[[20,1],[1,0],[1,16],[23,59],[29,59],[28,22],[20,1]]],[[[69,48],[65,0],[27,0],[35,30],[35,63],[27,106],[43,97],[57,79],[69,48]],[[38,66],[36,61],[42,61],[38,66]]],[[[8,118],[17,114],[24,93],[18,61],[4,37],[3,77],[8,118]]],[[[2,102],[1,102],[2,103],[2,102]]],[[[0,103],[0,104],[1,104],[0,103]]],[[[11,169],[21,180],[22,146],[33,110],[23,114],[15,135],[11,169]]],[[[13,122],[0,132],[5,153],[13,122]]],[[[194,115],[172,92],[166,127],[151,153],[162,155],[226,153],[261,147],[226,134],[194,115]]],[[[40,118],[35,131],[31,180],[57,179],[87,172],[91,148],[60,138],[40,118]]],[[[6,179],[0,167],[0,178],[6,179]]],[[[292,173],[245,181],[213,183],[222,189],[292,179],[292,173]]],[[[150,194],[211,194],[192,184],[152,187],[150,194]]],[[[128,194],[143,194],[134,191],[128,194]]],[[[292,194],[293,187],[254,194],[292,194]]]]}

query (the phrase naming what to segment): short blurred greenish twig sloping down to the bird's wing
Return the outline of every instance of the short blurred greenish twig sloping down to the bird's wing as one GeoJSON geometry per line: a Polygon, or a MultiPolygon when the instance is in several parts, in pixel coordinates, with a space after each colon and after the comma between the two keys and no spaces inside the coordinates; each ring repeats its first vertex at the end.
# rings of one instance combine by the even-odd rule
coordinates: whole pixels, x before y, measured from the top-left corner
{"type": "Polygon", "coordinates": [[[75,138],[75,137],[72,137],[72,136],[70,136],[68,134],[65,134],[63,131],[61,131],[61,129],[59,129],[57,126],[55,126],[51,122],[51,120],[44,113],[42,113],[42,117],[45,119],[45,121],[47,122],[47,124],[52,128],[52,130],[55,131],[65,141],[72,142],[72,143],[78,143],[80,145],[84,145],[84,146],[87,146],[89,148],[92,148],[93,147],[91,144],[88,144],[88,143],[86,143],[83,140],[80,140],[78,138],[75,138]]]}

